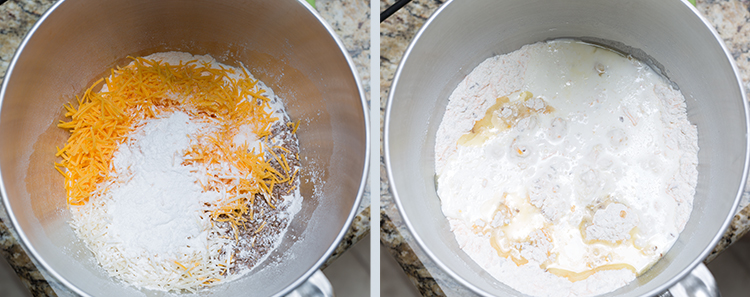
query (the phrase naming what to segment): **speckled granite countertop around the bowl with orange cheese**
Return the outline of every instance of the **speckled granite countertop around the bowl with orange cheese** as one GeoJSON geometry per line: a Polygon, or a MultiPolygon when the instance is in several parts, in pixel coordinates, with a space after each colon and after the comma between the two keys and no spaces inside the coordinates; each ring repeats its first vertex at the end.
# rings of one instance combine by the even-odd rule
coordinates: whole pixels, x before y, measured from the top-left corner
{"type": "MultiPolygon", "coordinates": [[[[0,80],[26,33],[55,0],[10,0],[0,5],[0,80]]],[[[369,102],[370,90],[370,5],[365,0],[318,0],[317,10],[333,27],[349,51],[362,80],[369,102]]],[[[0,1],[2,3],[2,1],[0,1]]],[[[369,189],[369,187],[368,187],[369,189]]],[[[338,258],[370,232],[370,193],[366,191],[349,232],[323,267],[338,258]]],[[[71,296],[69,290],[50,277],[31,259],[0,204],[0,257],[10,263],[34,296],[71,296]]]]}

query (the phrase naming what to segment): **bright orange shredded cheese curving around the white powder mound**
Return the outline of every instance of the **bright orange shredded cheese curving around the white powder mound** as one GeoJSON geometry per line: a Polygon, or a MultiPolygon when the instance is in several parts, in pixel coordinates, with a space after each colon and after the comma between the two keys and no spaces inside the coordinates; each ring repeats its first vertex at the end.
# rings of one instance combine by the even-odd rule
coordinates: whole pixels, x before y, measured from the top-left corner
{"type": "MultiPolygon", "coordinates": [[[[185,153],[183,164],[207,168],[207,179],[201,182],[204,191],[227,193],[213,208],[211,217],[231,223],[236,238],[238,228],[246,223],[244,215],[249,213],[252,219],[255,197],[261,196],[274,208],[274,188],[282,183],[294,186],[297,174],[296,170],[291,172],[286,157],[273,148],[265,146],[256,152],[232,141],[241,126],[250,127],[258,139],[271,136],[271,124],[279,118],[269,111],[270,99],[244,69],[237,79],[233,70],[212,68],[205,62],[168,65],[130,58],[131,65],[112,69],[108,78],[98,80],[76,97],[75,105],[63,106],[68,121],[60,121],[58,127],[70,131],[70,137],[57,149],[56,156],[61,160],[54,168],[65,177],[68,204],[84,205],[106,190],[103,185],[117,174],[112,169],[113,155],[139,123],[182,110],[191,118],[219,125],[219,132],[198,136],[185,153]],[[102,82],[106,89],[95,92],[102,82]],[[278,163],[282,172],[274,169],[272,162],[278,163]],[[222,164],[229,164],[235,174],[220,175],[222,164]]],[[[286,125],[296,132],[299,121],[286,125]]]]}

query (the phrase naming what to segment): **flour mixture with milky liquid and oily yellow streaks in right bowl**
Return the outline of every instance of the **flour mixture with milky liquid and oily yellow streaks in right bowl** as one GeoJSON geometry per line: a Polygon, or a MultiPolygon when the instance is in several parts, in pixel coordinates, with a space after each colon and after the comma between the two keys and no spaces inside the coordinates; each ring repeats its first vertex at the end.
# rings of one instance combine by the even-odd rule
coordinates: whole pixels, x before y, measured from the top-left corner
{"type": "Polygon", "coordinates": [[[485,60],[438,128],[438,196],[459,245],[535,296],[590,296],[648,270],[692,210],[697,129],[648,66],[572,40],[485,60]]]}

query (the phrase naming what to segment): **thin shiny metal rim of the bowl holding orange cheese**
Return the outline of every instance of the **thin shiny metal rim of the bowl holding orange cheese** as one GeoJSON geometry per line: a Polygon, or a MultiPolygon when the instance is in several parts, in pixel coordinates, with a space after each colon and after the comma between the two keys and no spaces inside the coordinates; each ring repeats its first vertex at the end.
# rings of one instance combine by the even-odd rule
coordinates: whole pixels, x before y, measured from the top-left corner
{"type": "MultiPolygon", "coordinates": [[[[359,99],[362,106],[362,113],[364,115],[365,120],[365,158],[364,158],[364,164],[363,164],[363,171],[362,171],[362,179],[360,181],[359,190],[357,191],[357,197],[354,201],[354,206],[352,207],[352,210],[349,213],[349,216],[346,219],[346,223],[344,224],[344,228],[341,229],[336,239],[331,243],[329,248],[326,250],[326,252],[323,254],[323,256],[313,265],[310,267],[310,269],[305,272],[302,277],[298,278],[296,281],[294,281],[292,284],[284,288],[282,291],[278,292],[277,294],[273,296],[284,296],[290,292],[292,292],[295,288],[302,285],[307,279],[312,276],[318,269],[325,263],[325,261],[333,254],[333,252],[336,250],[336,247],[338,247],[339,243],[341,243],[341,240],[344,238],[344,235],[349,231],[349,227],[351,226],[352,221],[354,220],[354,217],[357,215],[357,208],[359,207],[359,204],[362,202],[362,196],[365,191],[365,185],[367,181],[367,176],[369,173],[369,167],[370,167],[370,120],[369,120],[369,114],[367,113],[367,100],[364,96],[364,90],[362,88],[362,81],[359,78],[359,75],[357,74],[357,69],[354,66],[354,62],[349,55],[348,51],[344,47],[343,42],[341,42],[341,39],[336,35],[335,31],[331,26],[323,19],[323,17],[312,8],[312,6],[307,3],[304,0],[296,0],[300,3],[300,5],[303,5],[311,14],[315,16],[315,18],[318,20],[318,22],[325,27],[325,29],[328,31],[330,36],[333,38],[333,40],[336,42],[336,45],[341,50],[341,54],[345,57],[347,64],[349,65],[349,69],[351,70],[352,76],[357,84],[357,89],[359,91],[359,99]]],[[[53,4],[34,24],[34,26],[29,30],[29,32],[26,34],[26,37],[24,37],[23,41],[19,45],[18,49],[13,55],[13,59],[11,60],[11,63],[8,66],[8,70],[5,74],[5,79],[3,80],[2,89],[0,89],[0,109],[2,109],[2,101],[5,98],[5,92],[8,85],[8,78],[10,78],[13,75],[13,69],[15,68],[16,62],[18,61],[19,55],[23,52],[23,49],[26,47],[28,41],[32,38],[34,35],[34,32],[42,25],[42,23],[47,19],[47,17],[52,14],[55,9],[57,9],[59,6],[63,5],[66,0],[60,0],[57,3],[53,4]]],[[[2,166],[0,166],[0,195],[2,195],[2,201],[3,206],[5,207],[6,211],[9,214],[9,218],[11,221],[11,224],[13,225],[13,228],[16,230],[16,233],[18,234],[19,238],[21,239],[21,244],[24,246],[24,248],[29,252],[29,254],[32,256],[34,260],[36,260],[52,277],[60,281],[65,287],[69,288],[76,294],[79,294],[81,296],[91,296],[88,293],[82,291],[80,288],[72,284],[67,278],[60,275],[56,270],[52,269],[45,261],[42,259],[38,252],[31,246],[28,237],[22,230],[18,228],[19,223],[16,220],[15,216],[11,215],[13,213],[12,208],[10,207],[10,202],[7,198],[7,192],[5,190],[5,185],[2,179],[2,166]]]]}

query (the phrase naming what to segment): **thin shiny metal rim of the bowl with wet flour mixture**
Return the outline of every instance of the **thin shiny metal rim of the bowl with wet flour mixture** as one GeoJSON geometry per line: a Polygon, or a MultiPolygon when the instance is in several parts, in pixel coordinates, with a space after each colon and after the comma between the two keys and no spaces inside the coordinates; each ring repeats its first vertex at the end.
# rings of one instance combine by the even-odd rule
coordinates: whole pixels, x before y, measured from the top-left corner
{"type": "MultiPolygon", "coordinates": [[[[716,32],[716,30],[713,28],[713,26],[703,16],[700,15],[700,13],[697,11],[697,9],[694,6],[692,6],[691,4],[689,4],[689,2],[687,2],[687,0],[680,0],[680,1],[682,1],[683,4],[685,4],[685,5],[687,5],[687,6],[690,7],[691,11],[695,14],[695,16],[697,16],[698,18],[700,18],[700,20],[704,23],[704,25],[711,31],[711,33],[713,34],[714,39],[716,40],[716,42],[721,45],[722,49],[724,50],[725,58],[732,65],[732,70],[734,72],[734,76],[737,79],[737,85],[740,86],[740,91],[742,93],[742,98],[746,98],[745,89],[744,89],[744,87],[742,87],[742,81],[739,78],[740,76],[739,76],[739,71],[737,69],[737,65],[736,65],[734,59],[732,58],[729,50],[727,49],[726,45],[724,44],[724,42],[720,38],[719,34],[716,32]]],[[[393,197],[394,197],[394,200],[396,202],[396,206],[397,206],[397,208],[399,210],[399,213],[400,213],[401,217],[403,218],[404,223],[406,224],[409,232],[411,232],[412,236],[417,241],[417,243],[422,248],[422,250],[424,250],[425,254],[427,254],[427,256],[430,257],[430,259],[432,261],[434,261],[437,264],[438,267],[440,267],[443,271],[445,271],[453,279],[457,280],[459,283],[461,283],[462,285],[466,286],[467,288],[469,288],[473,292],[475,292],[477,294],[480,294],[480,295],[484,295],[484,296],[492,296],[488,292],[486,292],[486,291],[478,288],[477,286],[473,285],[471,282],[469,282],[468,280],[466,280],[465,278],[461,277],[460,275],[458,275],[457,273],[455,273],[453,270],[451,270],[450,268],[448,268],[448,266],[446,266],[445,263],[443,263],[427,247],[427,245],[422,240],[422,238],[420,237],[420,235],[415,232],[415,227],[413,226],[412,221],[407,216],[406,211],[404,210],[403,205],[401,203],[401,198],[400,198],[400,196],[398,194],[398,187],[393,182],[393,178],[394,177],[393,177],[393,171],[392,171],[392,166],[391,166],[391,158],[390,158],[389,131],[390,131],[391,108],[393,106],[392,103],[393,103],[393,100],[394,100],[395,91],[398,88],[398,81],[399,81],[399,78],[401,76],[401,72],[403,71],[404,65],[406,64],[406,61],[409,59],[410,55],[412,54],[412,51],[414,49],[415,44],[417,44],[419,42],[419,39],[421,38],[421,36],[423,35],[423,33],[427,30],[427,28],[430,26],[430,24],[437,17],[439,17],[439,15],[441,14],[441,12],[443,12],[446,9],[446,7],[448,7],[449,5],[451,5],[453,2],[454,2],[454,0],[448,0],[448,1],[446,1],[424,23],[424,25],[419,29],[419,31],[417,32],[417,34],[414,36],[414,39],[412,39],[412,41],[409,43],[409,46],[407,47],[407,49],[406,49],[406,51],[404,53],[404,56],[401,59],[401,62],[399,63],[398,68],[396,69],[396,73],[395,73],[395,75],[393,77],[393,83],[391,84],[391,89],[389,90],[388,102],[387,102],[386,109],[385,109],[385,123],[384,123],[384,129],[383,129],[384,130],[384,132],[383,132],[383,147],[384,147],[383,151],[384,151],[384,154],[385,154],[384,160],[385,160],[385,166],[386,166],[386,173],[388,175],[388,179],[389,179],[389,182],[390,182],[391,192],[393,193],[393,197]]],[[[746,131],[748,131],[748,133],[750,133],[750,107],[748,106],[747,100],[742,100],[742,102],[743,102],[743,106],[744,106],[744,109],[745,109],[745,129],[746,129],[746,131]]],[[[750,166],[750,138],[748,138],[747,134],[745,135],[745,142],[746,142],[746,145],[745,145],[745,160],[744,160],[744,170],[743,170],[743,173],[742,173],[742,180],[747,180],[747,177],[748,177],[748,167],[750,166]]],[[[737,190],[737,194],[735,196],[734,205],[732,206],[732,210],[730,212],[731,215],[724,219],[724,223],[722,224],[722,227],[720,228],[721,232],[717,233],[714,236],[714,238],[711,240],[711,243],[709,244],[709,246],[706,249],[704,249],[704,251],[701,253],[701,256],[698,257],[698,258],[696,258],[696,259],[694,259],[691,262],[691,264],[688,265],[688,267],[686,267],[681,273],[673,276],[669,281],[667,281],[667,282],[661,284],[660,286],[658,286],[657,288],[649,291],[647,294],[645,294],[645,296],[653,296],[653,295],[656,295],[656,294],[659,294],[661,292],[664,292],[664,291],[668,290],[670,287],[672,287],[678,281],[680,281],[682,278],[684,278],[687,274],[689,274],[693,269],[695,269],[695,267],[697,267],[703,261],[703,259],[705,259],[706,256],[708,256],[708,254],[711,252],[711,250],[713,249],[713,247],[716,246],[716,244],[721,239],[721,237],[722,237],[723,233],[726,231],[727,227],[729,227],[729,224],[731,223],[731,221],[732,221],[732,219],[734,217],[734,213],[736,213],[736,211],[737,211],[737,207],[739,205],[740,198],[742,197],[742,193],[744,191],[744,187],[745,187],[745,184],[741,183],[739,189],[737,190]]]]}

